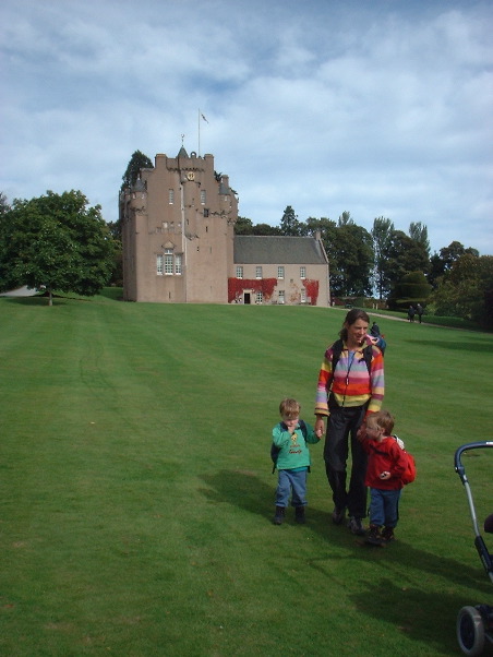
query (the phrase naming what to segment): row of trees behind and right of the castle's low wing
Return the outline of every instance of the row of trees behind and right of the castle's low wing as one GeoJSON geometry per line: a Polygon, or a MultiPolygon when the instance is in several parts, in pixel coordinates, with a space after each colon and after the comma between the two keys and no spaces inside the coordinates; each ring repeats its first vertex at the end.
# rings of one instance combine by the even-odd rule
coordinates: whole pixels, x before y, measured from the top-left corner
{"type": "Polygon", "coordinates": [[[428,313],[458,316],[493,327],[493,256],[453,241],[431,254],[428,228],[411,223],[397,230],[376,217],[371,230],[349,212],[337,222],[309,217],[302,222],[288,205],[278,226],[239,217],[236,235],[314,237],[321,235],[329,262],[333,298],[372,297],[390,309],[421,303],[428,313]]]}

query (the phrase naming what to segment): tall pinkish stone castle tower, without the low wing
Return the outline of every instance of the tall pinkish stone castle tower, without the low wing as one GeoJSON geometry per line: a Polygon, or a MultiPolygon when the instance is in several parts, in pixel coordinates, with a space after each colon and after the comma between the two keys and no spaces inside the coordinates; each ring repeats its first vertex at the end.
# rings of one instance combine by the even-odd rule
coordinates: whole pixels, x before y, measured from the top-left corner
{"type": "Polygon", "coordinates": [[[156,155],[120,194],[123,298],[227,303],[238,198],[214,156],[156,155]]]}

